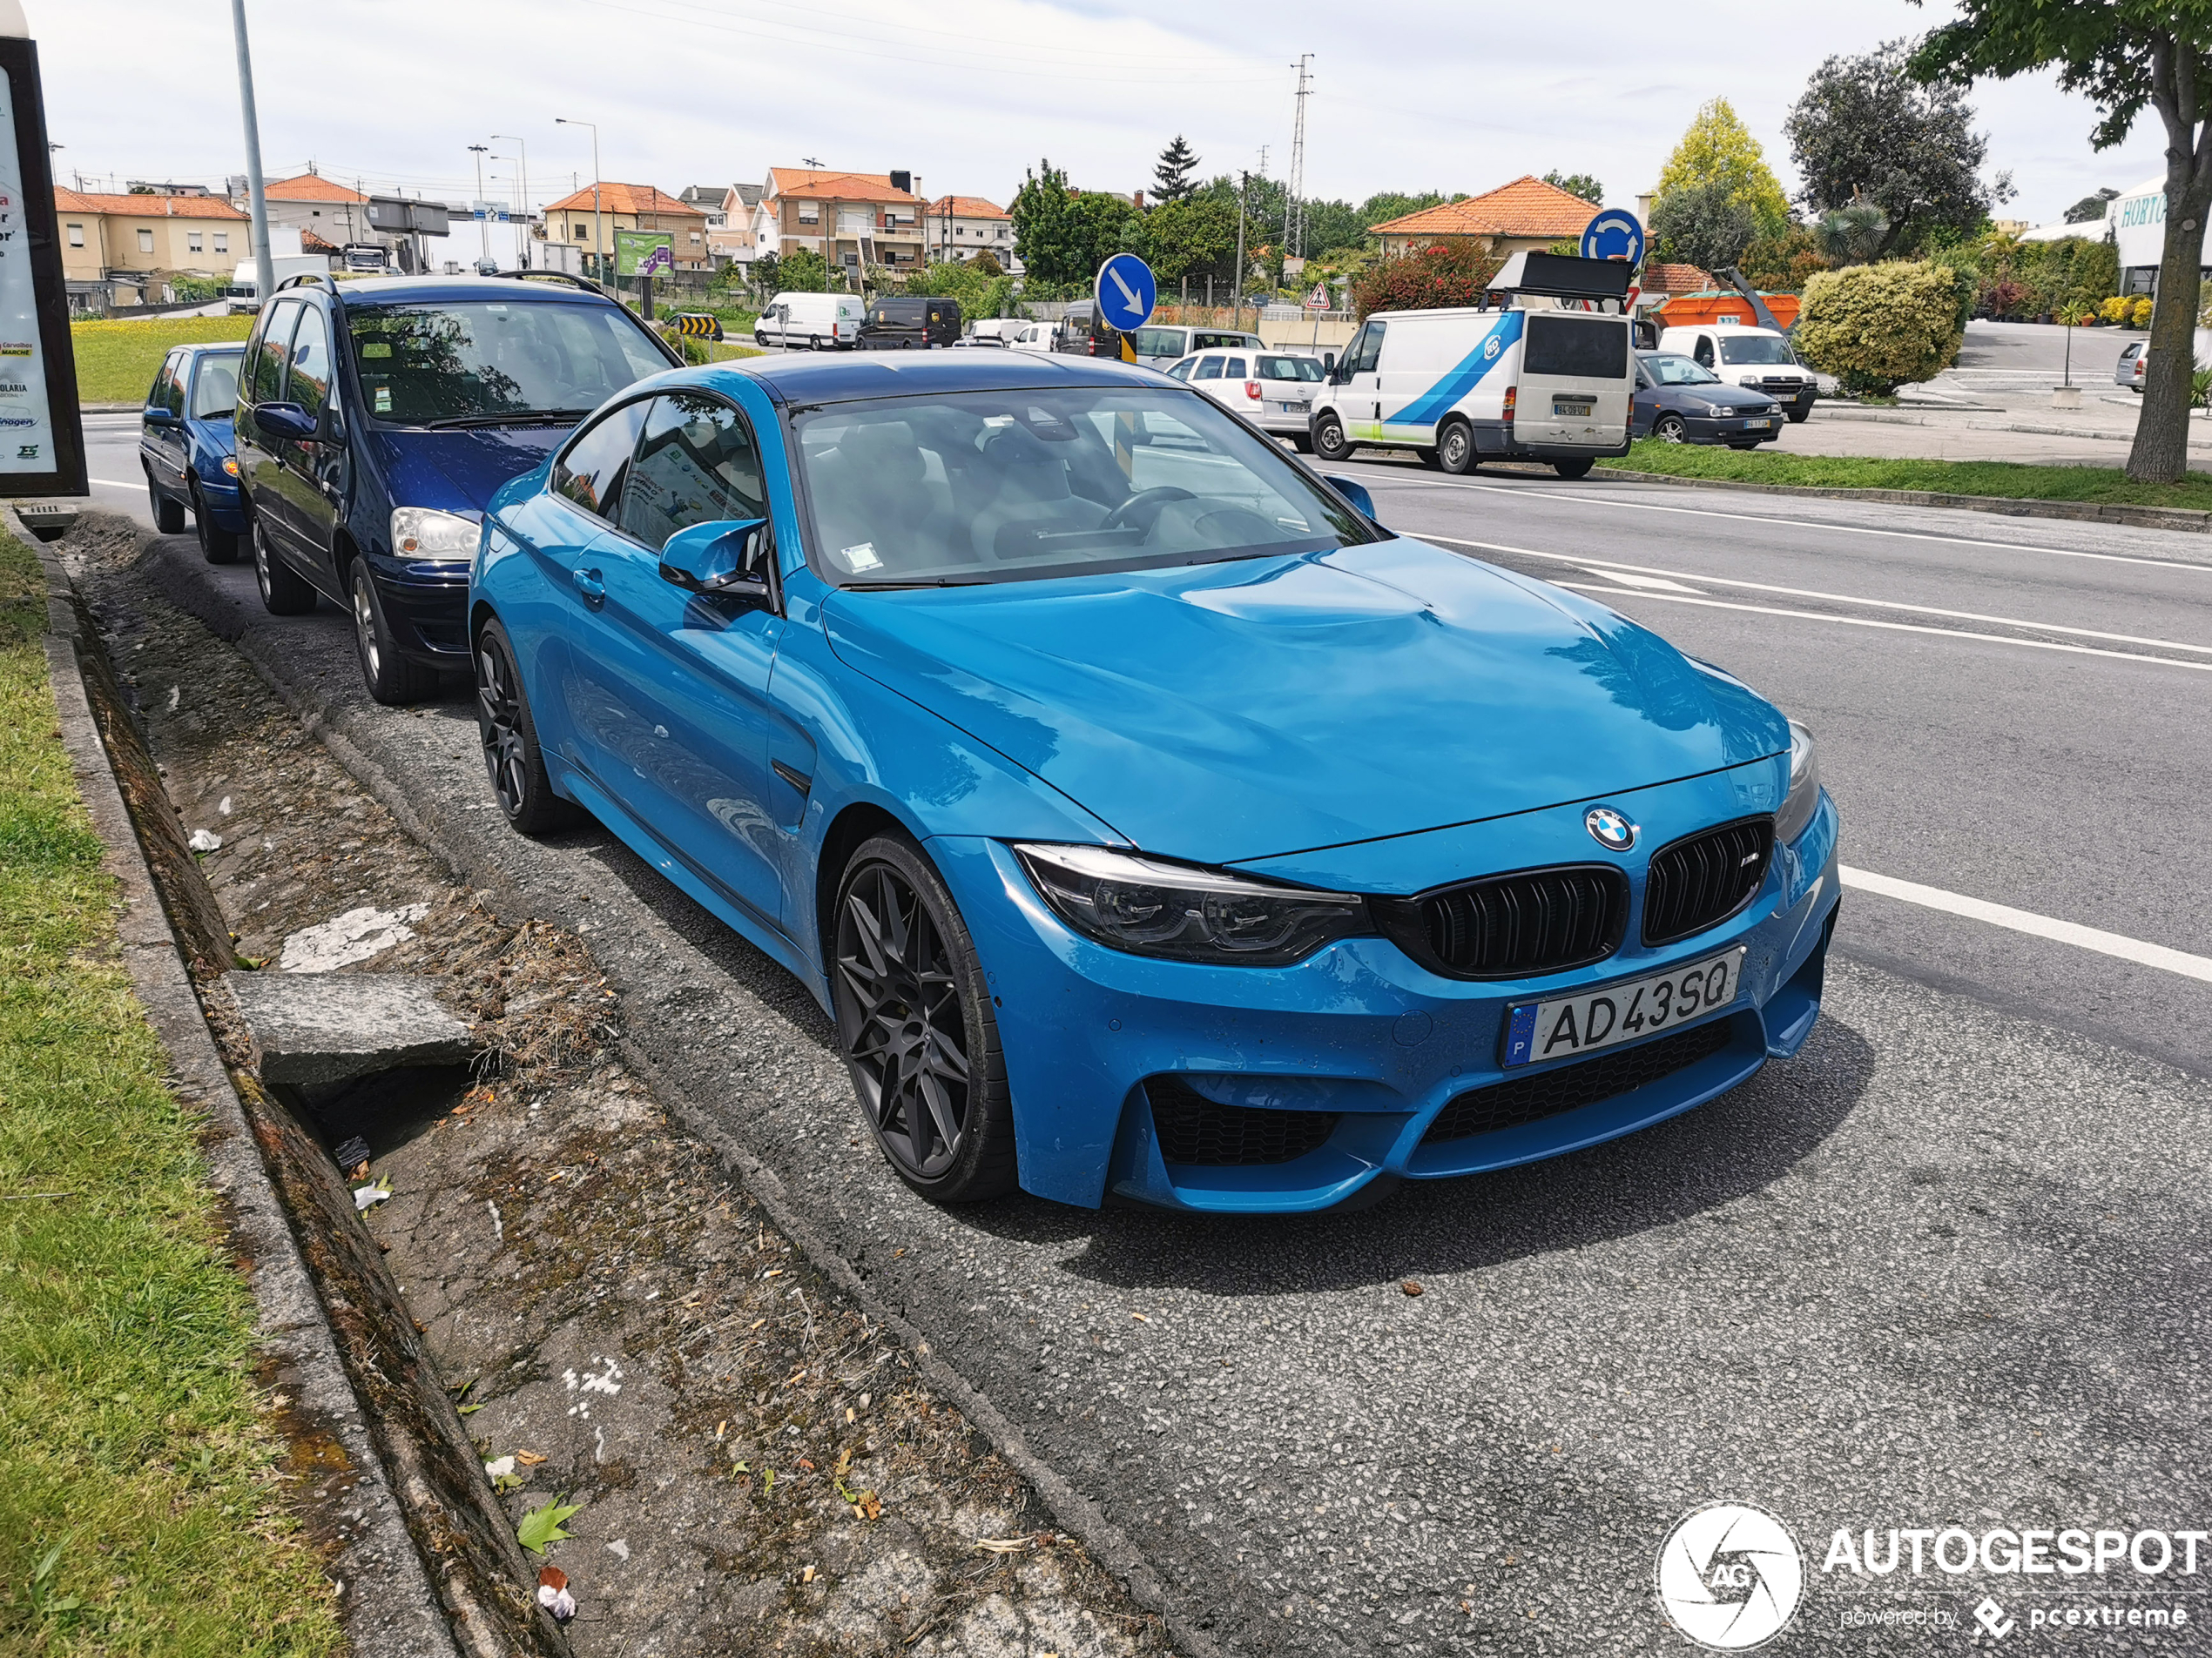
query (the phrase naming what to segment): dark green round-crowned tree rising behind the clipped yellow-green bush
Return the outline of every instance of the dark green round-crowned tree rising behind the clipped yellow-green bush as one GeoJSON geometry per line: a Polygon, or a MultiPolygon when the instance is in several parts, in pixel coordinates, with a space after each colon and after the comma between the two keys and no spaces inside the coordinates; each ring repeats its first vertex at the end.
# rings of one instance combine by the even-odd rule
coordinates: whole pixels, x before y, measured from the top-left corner
{"type": "Polygon", "coordinates": [[[1933,230],[1973,230],[2013,195],[2006,172],[1982,183],[1989,139],[1973,130],[1964,91],[1913,80],[1902,40],[1820,64],[1783,133],[1807,208],[1880,208],[1882,239],[1865,259],[1916,248],[1933,230]]]}

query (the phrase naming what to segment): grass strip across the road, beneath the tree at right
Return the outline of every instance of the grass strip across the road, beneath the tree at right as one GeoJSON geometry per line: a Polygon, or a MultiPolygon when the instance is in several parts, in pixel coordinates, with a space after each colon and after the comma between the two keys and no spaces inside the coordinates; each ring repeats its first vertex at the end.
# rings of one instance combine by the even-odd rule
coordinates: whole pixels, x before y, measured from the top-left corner
{"type": "MultiPolygon", "coordinates": [[[[2117,447],[2117,444],[2115,444],[2117,447]]],[[[2212,508],[2212,475],[2179,484],[2137,484],[2119,466],[2017,466],[2004,460],[1867,460],[1851,455],[1739,453],[1721,444],[1668,444],[1644,438],[1624,460],[1599,466],[1670,478],[1732,478],[1745,484],[1812,489],[1924,489],[1938,495],[1989,495],[2015,502],[2212,508]]]]}

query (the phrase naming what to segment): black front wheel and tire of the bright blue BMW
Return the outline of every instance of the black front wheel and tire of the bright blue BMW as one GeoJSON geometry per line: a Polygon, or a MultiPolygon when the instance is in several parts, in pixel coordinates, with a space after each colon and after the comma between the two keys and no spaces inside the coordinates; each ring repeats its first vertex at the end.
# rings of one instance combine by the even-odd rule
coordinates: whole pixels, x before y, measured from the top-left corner
{"type": "Polygon", "coordinates": [[[838,878],[830,990],[876,1150],[931,1203],[1011,1192],[1013,1094],[991,990],[936,867],[902,833],[838,878]]]}

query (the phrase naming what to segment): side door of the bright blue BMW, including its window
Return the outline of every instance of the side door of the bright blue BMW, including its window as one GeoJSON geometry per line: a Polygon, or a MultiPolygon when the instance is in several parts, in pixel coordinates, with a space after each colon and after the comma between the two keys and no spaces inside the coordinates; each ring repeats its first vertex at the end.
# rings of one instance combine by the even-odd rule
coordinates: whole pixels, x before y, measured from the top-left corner
{"type": "MultiPolygon", "coordinates": [[[[781,931],[807,796],[770,760],[801,780],[814,774],[812,745],[770,701],[783,617],[688,592],[659,559],[692,524],[768,517],[752,422],[706,391],[653,398],[617,517],[588,555],[606,588],[593,672],[619,705],[599,725],[608,787],[697,878],[781,931]]],[[[750,555],[770,575],[765,528],[750,555]]]]}

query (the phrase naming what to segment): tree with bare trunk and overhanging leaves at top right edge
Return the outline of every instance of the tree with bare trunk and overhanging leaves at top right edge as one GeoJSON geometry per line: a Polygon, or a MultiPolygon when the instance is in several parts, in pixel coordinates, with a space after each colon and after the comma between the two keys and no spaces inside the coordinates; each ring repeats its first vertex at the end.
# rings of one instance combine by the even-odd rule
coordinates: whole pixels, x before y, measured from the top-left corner
{"type": "Polygon", "coordinates": [[[2046,69],[2104,113],[2090,130],[2099,150],[2146,108],[2166,128],[2166,248],[2128,478],[2172,484],[2188,471],[2197,261],[2212,210],[2212,0],[1960,0],[1960,15],[1913,53],[1913,73],[1947,86],[2046,69]]]}

